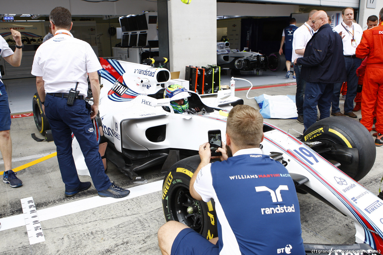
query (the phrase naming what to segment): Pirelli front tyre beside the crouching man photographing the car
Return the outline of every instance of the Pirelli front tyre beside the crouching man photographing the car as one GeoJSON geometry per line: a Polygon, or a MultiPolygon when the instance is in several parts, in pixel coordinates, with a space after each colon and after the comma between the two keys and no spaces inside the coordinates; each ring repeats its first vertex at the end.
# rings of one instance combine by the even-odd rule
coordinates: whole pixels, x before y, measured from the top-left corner
{"type": "Polygon", "coordinates": [[[189,182],[200,163],[195,155],[180,160],[165,175],[162,185],[162,207],[166,221],[179,221],[206,239],[218,237],[214,201],[198,201],[189,193],[189,182]]]}

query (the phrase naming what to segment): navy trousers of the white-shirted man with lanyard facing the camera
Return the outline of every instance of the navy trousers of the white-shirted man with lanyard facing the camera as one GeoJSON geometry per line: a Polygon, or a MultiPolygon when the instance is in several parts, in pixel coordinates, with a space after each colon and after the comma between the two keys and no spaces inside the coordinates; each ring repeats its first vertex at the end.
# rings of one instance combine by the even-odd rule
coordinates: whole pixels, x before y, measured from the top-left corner
{"type": "MultiPolygon", "coordinates": [[[[357,69],[362,64],[362,59],[344,57],[347,72],[347,94],[344,100],[344,112],[349,113],[354,109],[354,98],[357,95],[358,88],[358,76],[357,69]]],[[[340,88],[342,88],[342,82],[334,83],[334,92],[332,95],[332,109],[333,113],[340,111],[339,109],[339,95],[340,88]]]]}

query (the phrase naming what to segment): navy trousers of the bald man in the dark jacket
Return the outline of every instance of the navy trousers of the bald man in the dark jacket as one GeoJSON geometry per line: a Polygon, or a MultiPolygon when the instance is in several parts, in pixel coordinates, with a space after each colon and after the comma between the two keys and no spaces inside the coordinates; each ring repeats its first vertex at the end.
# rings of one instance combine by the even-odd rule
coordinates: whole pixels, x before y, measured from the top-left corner
{"type": "MultiPolygon", "coordinates": [[[[307,82],[304,90],[303,125],[306,131],[316,122],[316,106],[318,105],[320,119],[330,117],[331,97],[334,83],[307,82]]],[[[303,131],[303,132],[304,132],[303,131]]]]}

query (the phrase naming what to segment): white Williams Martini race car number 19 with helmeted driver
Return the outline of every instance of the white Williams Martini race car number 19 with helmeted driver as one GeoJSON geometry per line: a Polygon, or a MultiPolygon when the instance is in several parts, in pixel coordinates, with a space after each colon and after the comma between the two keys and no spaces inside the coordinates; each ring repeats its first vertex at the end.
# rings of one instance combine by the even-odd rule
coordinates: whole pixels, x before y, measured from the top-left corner
{"type": "MultiPolygon", "coordinates": [[[[229,110],[243,100],[230,90],[220,90],[216,98],[201,98],[189,91],[189,107],[200,111],[175,113],[170,98],[164,98],[170,80],[170,72],[160,68],[165,60],[150,59],[145,61],[148,65],[141,65],[100,59],[100,118],[94,121],[100,150],[107,144],[107,159],[135,183],[146,182],[137,174],[139,170],[163,164],[166,220],[183,222],[207,238],[215,237],[214,201],[193,199],[188,184],[199,163],[198,147],[208,141],[208,131],[224,134],[229,110]]],[[[36,126],[44,133],[49,123],[38,95],[33,98],[33,109],[36,126]]],[[[383,250],[383,201],[357,183],[370,171],[376,156],[365,127],[348,117],[331,117],[313,124],[300,139],[268,123],[264,123],[264,134],[263,153],[285,165],[298,192],[310,193],[354,220],[357,244],[330,248],[383,250]]],[[[72,148],[77,171],[88,175],[75,137],[72,148]]],[[[329,250],[320,245],[305,248],[329,250]]]]}

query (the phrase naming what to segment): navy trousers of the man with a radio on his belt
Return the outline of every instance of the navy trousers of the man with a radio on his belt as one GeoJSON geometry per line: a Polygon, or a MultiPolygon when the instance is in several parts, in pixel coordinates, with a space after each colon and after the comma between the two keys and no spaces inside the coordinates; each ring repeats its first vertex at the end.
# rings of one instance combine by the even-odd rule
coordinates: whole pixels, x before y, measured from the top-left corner
{"type": "Polygon", "coordinates": [[[67,98],[51,95],[45,97],[45,114],[52,129],[54,144],[57,147],[62,181],[65,189],[77,188],[80,184],[72,157],[72,132],[79,141],[85,163],[96,190],[107,190],[111,185],[98,152],[96,134],[90,119],[90,105],[85,100],[76,99],[74,105],[67,105],[67,98]]]}

